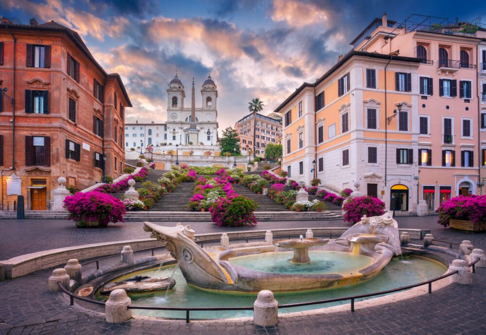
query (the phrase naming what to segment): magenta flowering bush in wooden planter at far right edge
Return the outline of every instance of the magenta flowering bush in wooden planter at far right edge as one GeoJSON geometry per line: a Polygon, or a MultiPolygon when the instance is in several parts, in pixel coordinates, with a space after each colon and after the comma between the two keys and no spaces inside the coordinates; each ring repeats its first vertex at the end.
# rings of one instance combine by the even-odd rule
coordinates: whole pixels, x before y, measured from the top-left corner
{"type": "Polygon", "coordinates": [[[468,220],[478,223],[486,220],[486,195],[455,196],[435,211],[439,213],[438,224],[447,227],[450,219],[468,220]]]}

